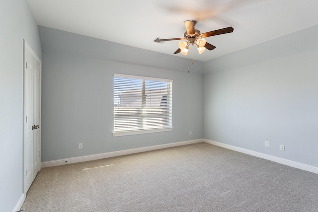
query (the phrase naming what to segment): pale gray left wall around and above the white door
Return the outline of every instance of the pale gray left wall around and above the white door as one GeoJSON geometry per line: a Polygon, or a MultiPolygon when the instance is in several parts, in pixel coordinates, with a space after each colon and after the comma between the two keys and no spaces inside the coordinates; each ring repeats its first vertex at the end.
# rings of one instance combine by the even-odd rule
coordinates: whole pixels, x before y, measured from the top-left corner
{"type": "Polygon", "coordinates": [[[0,2],[0,211],[23,192],[23,39],[41,59],[41,44],[26,0],[0,2]]]}

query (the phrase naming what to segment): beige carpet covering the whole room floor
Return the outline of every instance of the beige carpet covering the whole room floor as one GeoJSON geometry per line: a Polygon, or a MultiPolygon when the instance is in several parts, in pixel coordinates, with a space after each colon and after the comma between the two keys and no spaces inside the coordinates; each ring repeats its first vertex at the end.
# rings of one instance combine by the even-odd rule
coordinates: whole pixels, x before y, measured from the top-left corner
{"type": "Polygon", "coordinates": [[[317,212],[318,175],[208,143],[43,168],[25,212],[317,212]]]}

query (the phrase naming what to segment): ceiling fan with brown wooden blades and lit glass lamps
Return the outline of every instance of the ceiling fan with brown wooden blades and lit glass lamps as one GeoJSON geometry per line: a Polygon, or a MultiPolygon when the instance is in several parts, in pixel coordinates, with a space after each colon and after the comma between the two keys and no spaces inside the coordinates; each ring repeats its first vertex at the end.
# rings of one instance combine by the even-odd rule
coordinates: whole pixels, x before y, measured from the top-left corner
{"type": "Polygon", "coordinates": [[[178,53],[182,53],[183,55],[187,55],[188,54],[188,50],[189,50],[189,46],[193,46],[194,44],[197,45],[198,51],[200,54],[202,54],[205,49],[208,50],[213,50],[216,47],[213,46],[212,44],[209,44],[206,42],[205,38],[206,37],[211,37],[211,36],[215,36],[215,35],[221,35],[221,34],[226,34],[226,33],[230,33],[233,32],[233,27],[227,27],[224,29],[218,29],[218,30],[214,30],[214,31],[210,31],[210,32],[205,32],[202,33],[197,30],[194,29],[194,25],[197,23],[195,20],[192,21],[183,21],[184,25],[185,25],[185,29],[187,30],[184,33],[184,38],[168,38],[168,39],[160,39],[157,38],[156,40],[154,40],[155,42],[163,42],[163,41],[174,41],[174,40],[185,40],[185,41],[180,41],[178,46],[179,49],[177,49],[177,51],[175,51],[173,54],[178,54],[178,53]]]}

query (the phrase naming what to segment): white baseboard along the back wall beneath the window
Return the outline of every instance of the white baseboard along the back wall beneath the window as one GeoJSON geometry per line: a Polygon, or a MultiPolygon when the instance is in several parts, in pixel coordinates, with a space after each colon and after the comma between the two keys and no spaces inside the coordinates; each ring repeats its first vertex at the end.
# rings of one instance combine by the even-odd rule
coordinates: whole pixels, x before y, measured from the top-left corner
{"type": "Polygon", "coordinates": [[[71,163],[79,163],[79,162],[84,162],[89,160],[98,160],[98,159],[103,159],[108,157],[116,157],[116,156],[121,156],[126,154],[134,154],[139,152],[152,151],[157,149],[163,149],[163,148],[169,148],[169,147],[181,146],[181,145],[187,145],[187,144],[199,143],[199,142],[202,142],[202,139],[167,143],[167,144],[147,146],[147,147],[141,147],[141,148],[133,148],[133,149],[127,149],[127,150],[121,150],[121,151],[112,151],[112,152],[106,152],[101,154],[91,154],[91,155],[85,155],[80,157],[65,158],[60,160],[51,160],[51,161],[41,162],[41,168],[59,166],[59,165],[65,165],[65,164],[71,164],[71,163]]]}

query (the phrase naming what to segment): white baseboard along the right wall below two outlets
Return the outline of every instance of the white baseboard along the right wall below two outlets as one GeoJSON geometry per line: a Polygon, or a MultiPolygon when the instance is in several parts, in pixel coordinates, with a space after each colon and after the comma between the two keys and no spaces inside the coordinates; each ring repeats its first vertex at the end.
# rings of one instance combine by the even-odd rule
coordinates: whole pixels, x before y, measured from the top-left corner
{"type": "Polygon", "coordinates": [[[242,153],[245,153],[245,154],[253,155],[253,156],[256,156],[256,157],[260,157],[260,158],[263,158],[263,159],[271,160],[271,161],[274,161],[274,162],[277,162],[277,163],[281,163],[281,164],[284,164],[284,165],[287,165],[287,166],[291,166],[291,167],[294,167],[294,168],[298,168],[298,169],[302,169],[302,170],[305,170],[305,171],[309,171],[309,172],[313,172],[313,173],[318,174],[318,167],[316,167],[316,166],[311,166],[311,165],[307,165],[307,164],[304,164],[304,163],[299,163],[299,162],[295,162],[295,161],[292,161],[292,160],[287,160],[287,159],[284,159],[284,158],[275,157],[275,156],[268,155],[268,154],[263,154],[263,153],[260,153],[260,152],[257,152],[257,151],[252,151],[252,150],[240,148],[240,147],[237,147],[237,146],[233,146],[233,145],[229,145],[229,144],[225,144],[225,143],[220,143],[220,142],[217,142],[217,141],[211,141],[211,140],[203,139],[203,142],[210,143],[210,144],[213,144],[213,145],[216,145],[216,146],[221,146],[221,147],[224,147],[224,148],[227,148],[227,149],[231,149],[231,150],[234,150],[234,151],[239,151],[239,152],[242,152],[242,153]]]}

